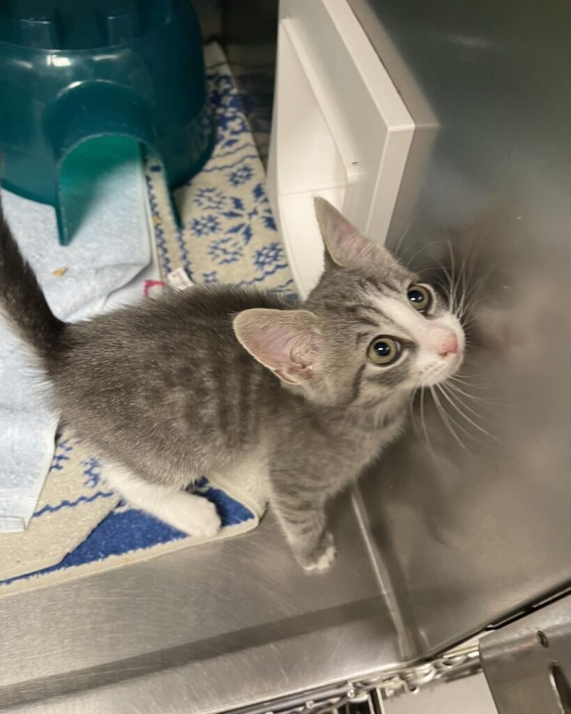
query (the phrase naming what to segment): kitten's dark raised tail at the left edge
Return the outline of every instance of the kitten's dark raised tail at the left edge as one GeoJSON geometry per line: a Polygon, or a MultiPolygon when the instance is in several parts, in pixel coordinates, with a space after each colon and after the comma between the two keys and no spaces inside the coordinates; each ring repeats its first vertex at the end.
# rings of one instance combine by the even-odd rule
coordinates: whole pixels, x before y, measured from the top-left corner
{"type": "Polygon", "coordinates": [[[0,205],[0,313],[41,356],[59,346],[65,323],[49,308],[44,293],[6,223],[0,205]]]}

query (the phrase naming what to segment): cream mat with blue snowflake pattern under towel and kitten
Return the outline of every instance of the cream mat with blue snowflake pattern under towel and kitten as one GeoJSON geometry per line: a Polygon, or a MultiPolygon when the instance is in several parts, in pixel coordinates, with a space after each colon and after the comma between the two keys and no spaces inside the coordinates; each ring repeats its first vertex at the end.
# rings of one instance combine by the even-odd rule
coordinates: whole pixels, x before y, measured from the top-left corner
{"type": "MultiPolygon", "coordinates": [[[[173,220],[162,167],[153,157],[146,159],[161,272],[165,277],[183,267],[196,283],[259,285],[293,296],[241,96],[218,45],[206,47],[205,59],[218,139],[201,173],[176,192],[182,229],[173,220]]],[[[104,471],[97,455],[64,427],[29,530],[0,535],[0,595],[193,544],[180,531],[120,503],[106,487],[104,471]]],[[[250,530],[263,513],[263,493],[254,481],[221,488],[203,478],[196,491],[221,514],[224,527],[217,538],[250,530]]]]}

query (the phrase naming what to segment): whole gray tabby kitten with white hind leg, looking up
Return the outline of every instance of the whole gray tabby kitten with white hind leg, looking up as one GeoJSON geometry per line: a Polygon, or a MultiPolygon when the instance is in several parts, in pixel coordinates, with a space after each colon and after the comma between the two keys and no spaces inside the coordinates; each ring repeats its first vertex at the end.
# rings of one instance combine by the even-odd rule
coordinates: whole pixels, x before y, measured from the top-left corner
{"type": "Polygon", "coordinates": [[[303,308],[196,287],[66,324],[0,223],[0,306],[41,357],[66,421],[133,506],[195,536],[220,528],[185,488],[256,470],[295,557],[325,570],[325,503],[405,425],[413,390],[460,366],[464,335],[433,288],[315,201],[325,271],[303,308]]]}

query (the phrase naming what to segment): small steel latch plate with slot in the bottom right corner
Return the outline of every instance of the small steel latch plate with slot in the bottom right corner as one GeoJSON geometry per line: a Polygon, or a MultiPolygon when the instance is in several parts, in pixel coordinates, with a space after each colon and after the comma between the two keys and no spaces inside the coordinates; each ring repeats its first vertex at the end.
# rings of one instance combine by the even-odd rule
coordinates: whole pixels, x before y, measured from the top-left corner
{"type": "Polygon", "coordinates": [[[571,713],[571,595],[486,635],[480,653],[499,714],[571,713]]]}

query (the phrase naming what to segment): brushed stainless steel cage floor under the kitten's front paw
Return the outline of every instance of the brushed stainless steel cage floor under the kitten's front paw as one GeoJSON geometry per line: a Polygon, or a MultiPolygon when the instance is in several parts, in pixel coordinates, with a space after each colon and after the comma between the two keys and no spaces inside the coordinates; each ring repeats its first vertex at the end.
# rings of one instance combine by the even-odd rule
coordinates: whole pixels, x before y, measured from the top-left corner
{"type": "Polygon", "coordinates": [[[305,575],[273,518],[253,533],[0,600],[0,710],[210,712],[402,657],[350,499],[340,557],[305,575]],[[54,697],[57,697],[54,699],[54,697]]]}

